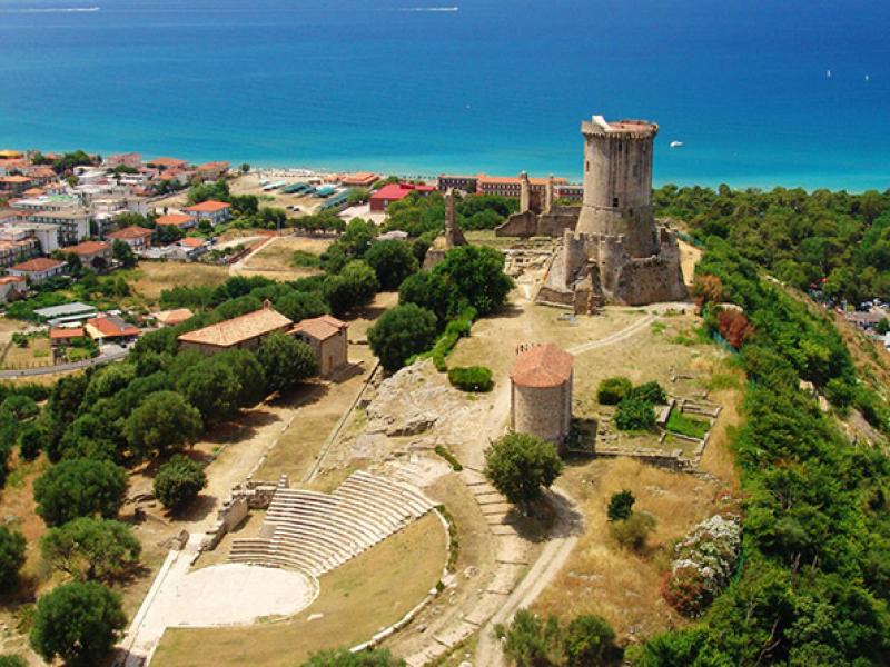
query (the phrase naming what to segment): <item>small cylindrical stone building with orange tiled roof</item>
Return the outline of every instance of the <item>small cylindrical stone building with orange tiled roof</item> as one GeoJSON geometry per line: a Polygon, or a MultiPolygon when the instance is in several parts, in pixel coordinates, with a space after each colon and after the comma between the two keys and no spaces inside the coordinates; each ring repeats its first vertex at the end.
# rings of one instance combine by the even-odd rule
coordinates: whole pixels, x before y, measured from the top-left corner
{"type": "Polygon", "coordinates": [[[510,374],[510,428],[556,445],[562,451],[572,425],[574,358],[553,344],[516,357],[510,374]]]}

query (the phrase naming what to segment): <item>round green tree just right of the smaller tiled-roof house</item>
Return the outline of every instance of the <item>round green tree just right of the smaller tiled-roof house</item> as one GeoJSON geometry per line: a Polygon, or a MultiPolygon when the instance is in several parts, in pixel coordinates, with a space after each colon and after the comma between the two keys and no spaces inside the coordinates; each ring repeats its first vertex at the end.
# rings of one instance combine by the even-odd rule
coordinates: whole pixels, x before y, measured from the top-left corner
{"type": "Polygon", "coordinates": [[[406,303],[384,312],[368,329],[368,344],[384,369],[395,372],[409,357],[428,350],[436,340],[436,316],[406,303]]]}

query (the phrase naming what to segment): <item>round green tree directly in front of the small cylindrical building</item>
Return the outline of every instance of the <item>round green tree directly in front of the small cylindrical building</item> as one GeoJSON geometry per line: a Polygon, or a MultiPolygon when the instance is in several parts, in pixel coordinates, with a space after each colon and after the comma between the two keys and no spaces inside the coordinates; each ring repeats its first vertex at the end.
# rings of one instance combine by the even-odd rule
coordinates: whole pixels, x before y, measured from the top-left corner
{"type": "Polygon", "coordinates": [[[528,434],[507,434],[485,450],[485,477],[507,500],[526,509],[562,470],[556,447],[528,434]]]}

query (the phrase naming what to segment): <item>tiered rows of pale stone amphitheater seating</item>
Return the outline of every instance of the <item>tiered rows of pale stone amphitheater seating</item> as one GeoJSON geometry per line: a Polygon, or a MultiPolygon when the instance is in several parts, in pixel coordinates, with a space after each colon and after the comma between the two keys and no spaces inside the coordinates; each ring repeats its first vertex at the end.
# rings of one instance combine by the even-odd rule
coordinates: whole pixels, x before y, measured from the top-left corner
{"type": "Polygon", "coordinates": [[[353,472],[333,494],[279,488],[260,536],[235,539],[229,560],[319,577],[433,507],[416,488],[364,471],[353,472]]]}

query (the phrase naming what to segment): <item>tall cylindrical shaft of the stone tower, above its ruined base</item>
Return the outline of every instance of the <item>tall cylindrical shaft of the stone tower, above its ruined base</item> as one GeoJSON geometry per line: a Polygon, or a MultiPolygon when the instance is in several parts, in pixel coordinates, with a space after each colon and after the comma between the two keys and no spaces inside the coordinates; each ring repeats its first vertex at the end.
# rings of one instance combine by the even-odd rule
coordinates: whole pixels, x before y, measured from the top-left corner
{"type": "Polygon", "coordinates": [[[657,253],[652,217],[652,143],[659,126],[645,120],[581,123],[584,135],[584,203],[580,233],[623,236],[630,257],[657,253]]]}

